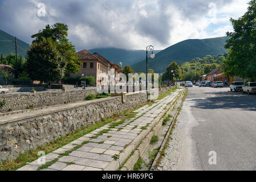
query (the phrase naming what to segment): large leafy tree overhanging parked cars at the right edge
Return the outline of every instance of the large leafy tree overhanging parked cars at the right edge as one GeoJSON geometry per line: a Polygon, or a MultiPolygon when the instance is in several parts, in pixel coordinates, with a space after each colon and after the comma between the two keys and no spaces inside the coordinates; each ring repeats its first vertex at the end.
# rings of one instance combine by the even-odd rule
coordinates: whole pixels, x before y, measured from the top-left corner
{"type": "Polygon", "coordinates": [[[247,12],[237,20],[231,18],[234,32],[227,32],[228,50],[222,65],[228,76],[256,80],[256,0],[249,2],[247,12]]]}

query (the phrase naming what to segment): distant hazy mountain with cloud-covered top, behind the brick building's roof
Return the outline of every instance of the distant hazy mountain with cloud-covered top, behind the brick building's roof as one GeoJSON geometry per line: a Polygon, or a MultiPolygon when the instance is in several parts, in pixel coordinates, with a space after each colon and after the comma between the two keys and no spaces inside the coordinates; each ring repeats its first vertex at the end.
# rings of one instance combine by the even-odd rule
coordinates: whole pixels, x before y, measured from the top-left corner
{"type": "MultiPolygon", "coordinates": [[[[139,61],[145,59],[146,51],[145,50],[127,50],[127,49],[118,49],[118,48],[95,48],[88,50],[91,53],[99,53],[101,56],[105,57],[113,63],[123,63],[125,65],[136,64],[139,61]]],[[[160,51],[155,51],[158,53],[160,51]]]]}

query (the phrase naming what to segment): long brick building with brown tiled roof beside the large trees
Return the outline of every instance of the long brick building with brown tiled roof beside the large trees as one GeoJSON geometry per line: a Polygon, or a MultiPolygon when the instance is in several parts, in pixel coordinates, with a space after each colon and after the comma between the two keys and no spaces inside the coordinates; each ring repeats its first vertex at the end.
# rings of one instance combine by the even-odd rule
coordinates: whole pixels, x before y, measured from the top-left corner
{"type": "Polygon", "coordinates": [[[70,73],[70,77],[81,77],[82,74],[86,76],[95,77],[95,85],[100,83],[109,84],[111,69],[115,69],[115,76],[118,73],[121,73],[121,69],[116,66],[115,63],[108,61],[103,56],[99,55],[99,53],[91,53],[86,49],[77,52],[78,57],[80,58],[80,73],[70,73]],[[105,73],[107,77],[100,77],[101,73],[105,73]]]}

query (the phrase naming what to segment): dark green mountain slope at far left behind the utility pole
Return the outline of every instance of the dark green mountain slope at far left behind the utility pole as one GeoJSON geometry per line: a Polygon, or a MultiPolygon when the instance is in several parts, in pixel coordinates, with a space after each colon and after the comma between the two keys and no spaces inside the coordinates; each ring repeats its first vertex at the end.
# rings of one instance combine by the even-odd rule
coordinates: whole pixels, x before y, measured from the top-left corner
{"type": "MultiPolygon", "coordinates": [[[[14,42],[0,41],[0,56],[8,56],[10,53],[15,54],[15,37],[0,30],[0,40],[12,40],[14,42]]],[[[26,50],[29,49],[29,44],[17,38],[17,52],[18,55],[26,56],[26,50]]]]}

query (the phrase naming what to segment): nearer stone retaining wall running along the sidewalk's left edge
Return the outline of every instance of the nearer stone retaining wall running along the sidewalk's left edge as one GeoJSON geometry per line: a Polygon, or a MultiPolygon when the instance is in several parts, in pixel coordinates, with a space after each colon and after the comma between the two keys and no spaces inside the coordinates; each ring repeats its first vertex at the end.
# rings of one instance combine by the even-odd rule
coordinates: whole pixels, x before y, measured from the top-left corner
{"type": "MultiPolygon", "coordinates": [[[[160,93],[169,88],[161,88],[160,93]]],[[[129,93],[125,102],[120,96],[64,105],[66,109],[49,110],[41,114],[0,121],[0,163],[16,159],[20,154],[51,142],[68,133],[90,126],[121,111],[147,103],[147,92],[129,93]]],[[[1,118],[0,118],[1,120],[1,118]]]]}

